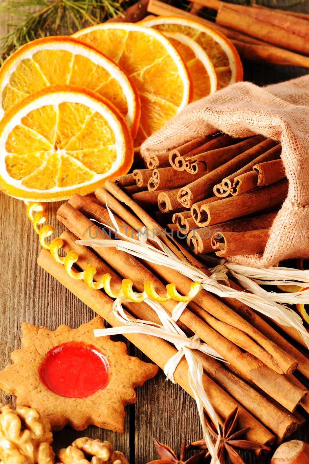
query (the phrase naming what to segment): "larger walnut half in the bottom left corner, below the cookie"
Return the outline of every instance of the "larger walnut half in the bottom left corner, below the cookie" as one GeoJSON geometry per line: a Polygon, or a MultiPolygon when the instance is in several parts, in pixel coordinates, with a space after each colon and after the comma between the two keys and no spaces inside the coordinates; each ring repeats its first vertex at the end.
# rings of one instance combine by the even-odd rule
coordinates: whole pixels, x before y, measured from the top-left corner
{"type": "Polygon", "coordinates": [[[0,404],[0,464],[54,464],[49,420],[34,408],[0,404]]]}

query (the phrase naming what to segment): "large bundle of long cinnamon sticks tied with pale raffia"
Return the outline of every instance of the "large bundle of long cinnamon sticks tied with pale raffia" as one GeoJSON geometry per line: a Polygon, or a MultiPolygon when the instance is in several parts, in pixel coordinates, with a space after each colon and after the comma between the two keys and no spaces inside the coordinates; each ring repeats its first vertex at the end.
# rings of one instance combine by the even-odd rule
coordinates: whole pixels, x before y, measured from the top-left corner
{"type": "MultiPolygon", "coordinates": [[[[214,140],[214,137],[207,142],[201,140],[200,146],[214,140]]],[[[194,144],[196,148],[196,142],[194,144]]],[[[124,177],[120,182],[128,181],[129,178],[124,180],[124,177]]],[[[96,253],[93,253],[87,247],[76,244],[78,238],[87,239],[89,234],[98,239],[108,238],[101,228],[89,220],[93,218],[101,223],[110,222],[106,203],[113,211],[118,226],[130,231],[130,236],[132,233],[136,237],[144,226],[149,230],[162,231],[150,214],[111,181],[107,181],[105,188],[97,189],[95,195],[75,195],[60,206],[57,219],[68,229],[61,236],[64,251],[75,250],[78,254],[76,270],[84,270],[88,264],[95,266],[96,281],[103,274],[109,273],[114,291],[119,290],[122,278],[130,278],[134,291],[143,291],[145,280],[150,280],[156,291],[163,294],[165,284],[172,281],[177,291],[186,294],[191,280],[176,270],[160,264],[145,263],[114,247],[96,247],[96,253]]],[[[180,259],[203,267],[175,240],[164,234],[160,238],[180,259]]],[[[38,264],[111,325],[120,325],[112,312],[113,302],[103,291],[91,290],[82,280],[69,277],[63,265],[58,264],[47,250],[41,251],[38,264]]],[[[203,271],[210,275],[206,269],[203,268],[203,271]]],[[[230,281],[230,285],[239,288],[233,281],[230,281]]],[[[162,303],[168,314],[176,304],[172,301],[162,303]]],[[[127,303],[126,311],[138,319],[159,322],[156,313],[145,303],[127,303]]],[[[205,392],[221,424],[236,404],[240,405],[241,428],[249,427],[246,438],[261,444],[272,444],[274,440],[280,443],[303,424],[299,406],[309,411],[308,392],[293,374],[297,369],[309,378],[309,361],[301,348],[295,348],[245,304],[229,298],[223,303],[206,290],[201,290],[188,304],[178,323],[188,336],[198,335],[228,362],[225,364],[196,352],[204,369],[205,392]]],[[[162,368],[176,353],[176,349],[162,339],[142,334],[128,334],[126,337],[162,368]]],[[[193,395],[184,358],[174,377],[179,385],[193,395]]],[[[261,451],[257,453],[260,455],[261,451]]]]}

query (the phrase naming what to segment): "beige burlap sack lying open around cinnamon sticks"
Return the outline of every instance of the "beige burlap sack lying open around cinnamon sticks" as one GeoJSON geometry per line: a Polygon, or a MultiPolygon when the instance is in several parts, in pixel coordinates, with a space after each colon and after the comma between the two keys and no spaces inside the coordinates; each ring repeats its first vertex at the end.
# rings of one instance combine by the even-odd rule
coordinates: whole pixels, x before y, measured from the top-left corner
{"type": "Polygon", "coordinates": [[[230,260],[269,267],[285,258],[309,258],[309,75],[264,88],[240,82],[191,103],[143,143],[141,154],[165,153],[217,129],[235,137],[262,134],[280,141],[289,180],[288,197],[264,254],[230,260]]]}

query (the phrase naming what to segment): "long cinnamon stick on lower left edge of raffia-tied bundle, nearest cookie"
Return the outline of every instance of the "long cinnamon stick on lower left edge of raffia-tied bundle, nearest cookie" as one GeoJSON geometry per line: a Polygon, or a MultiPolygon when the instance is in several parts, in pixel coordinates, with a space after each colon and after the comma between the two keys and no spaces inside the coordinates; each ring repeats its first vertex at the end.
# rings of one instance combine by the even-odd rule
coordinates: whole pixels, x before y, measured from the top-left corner
{"type": "MultiPolygon", "coordinates": [[[[40,252],[38,264],[113,327],[119,327],[121,325],[113,314],[113,301],[101,291],[89,289],[88,285],[82,280],[76,281],[70,278],[66,274],[64,267],[54,261],[49,251],[42,250],[40,252]]],[[[177,350],[169,343],[157,337],[143,334],[126,334],[126,338],[134,343],[137,348],[161,368],[164,368],[166,362],[177,353],[177,350]]],[[[188,364],[184,358],[178,364],[174,373],[174,378],[187,393],[194,397],[189,386],[188,364]]],[[[214,407],[219,422],[223,424],[227,415],[233,411],[235,404],[237,404],[236,401],[225,393],[224,390],[206,374],[203,374],[203,387],[214,407]]],[[[274,442],[274,435],[241,406],[238,420],[241,428],[249,427],[249,430],[246,432],[247,439],[264,445],[271,445],[274,442]]]]}

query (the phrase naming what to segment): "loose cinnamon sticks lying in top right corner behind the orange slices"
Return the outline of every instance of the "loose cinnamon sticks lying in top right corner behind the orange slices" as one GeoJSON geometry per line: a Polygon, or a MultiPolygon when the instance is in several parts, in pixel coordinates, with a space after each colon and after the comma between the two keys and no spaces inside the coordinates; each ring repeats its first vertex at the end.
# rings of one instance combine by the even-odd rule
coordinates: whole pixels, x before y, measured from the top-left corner
{"type": "Polygon", "coordinates": [[[197,0],[190,11],[160,0],[149,0],[148,13],[195,19],[222,32],[246,60],[309,68],[309,18],[295,13],[253,4],[235,5],[220,0],[197,0]],[[215,23],[197,16],[208,7],[217,10],[215,23]]]}

